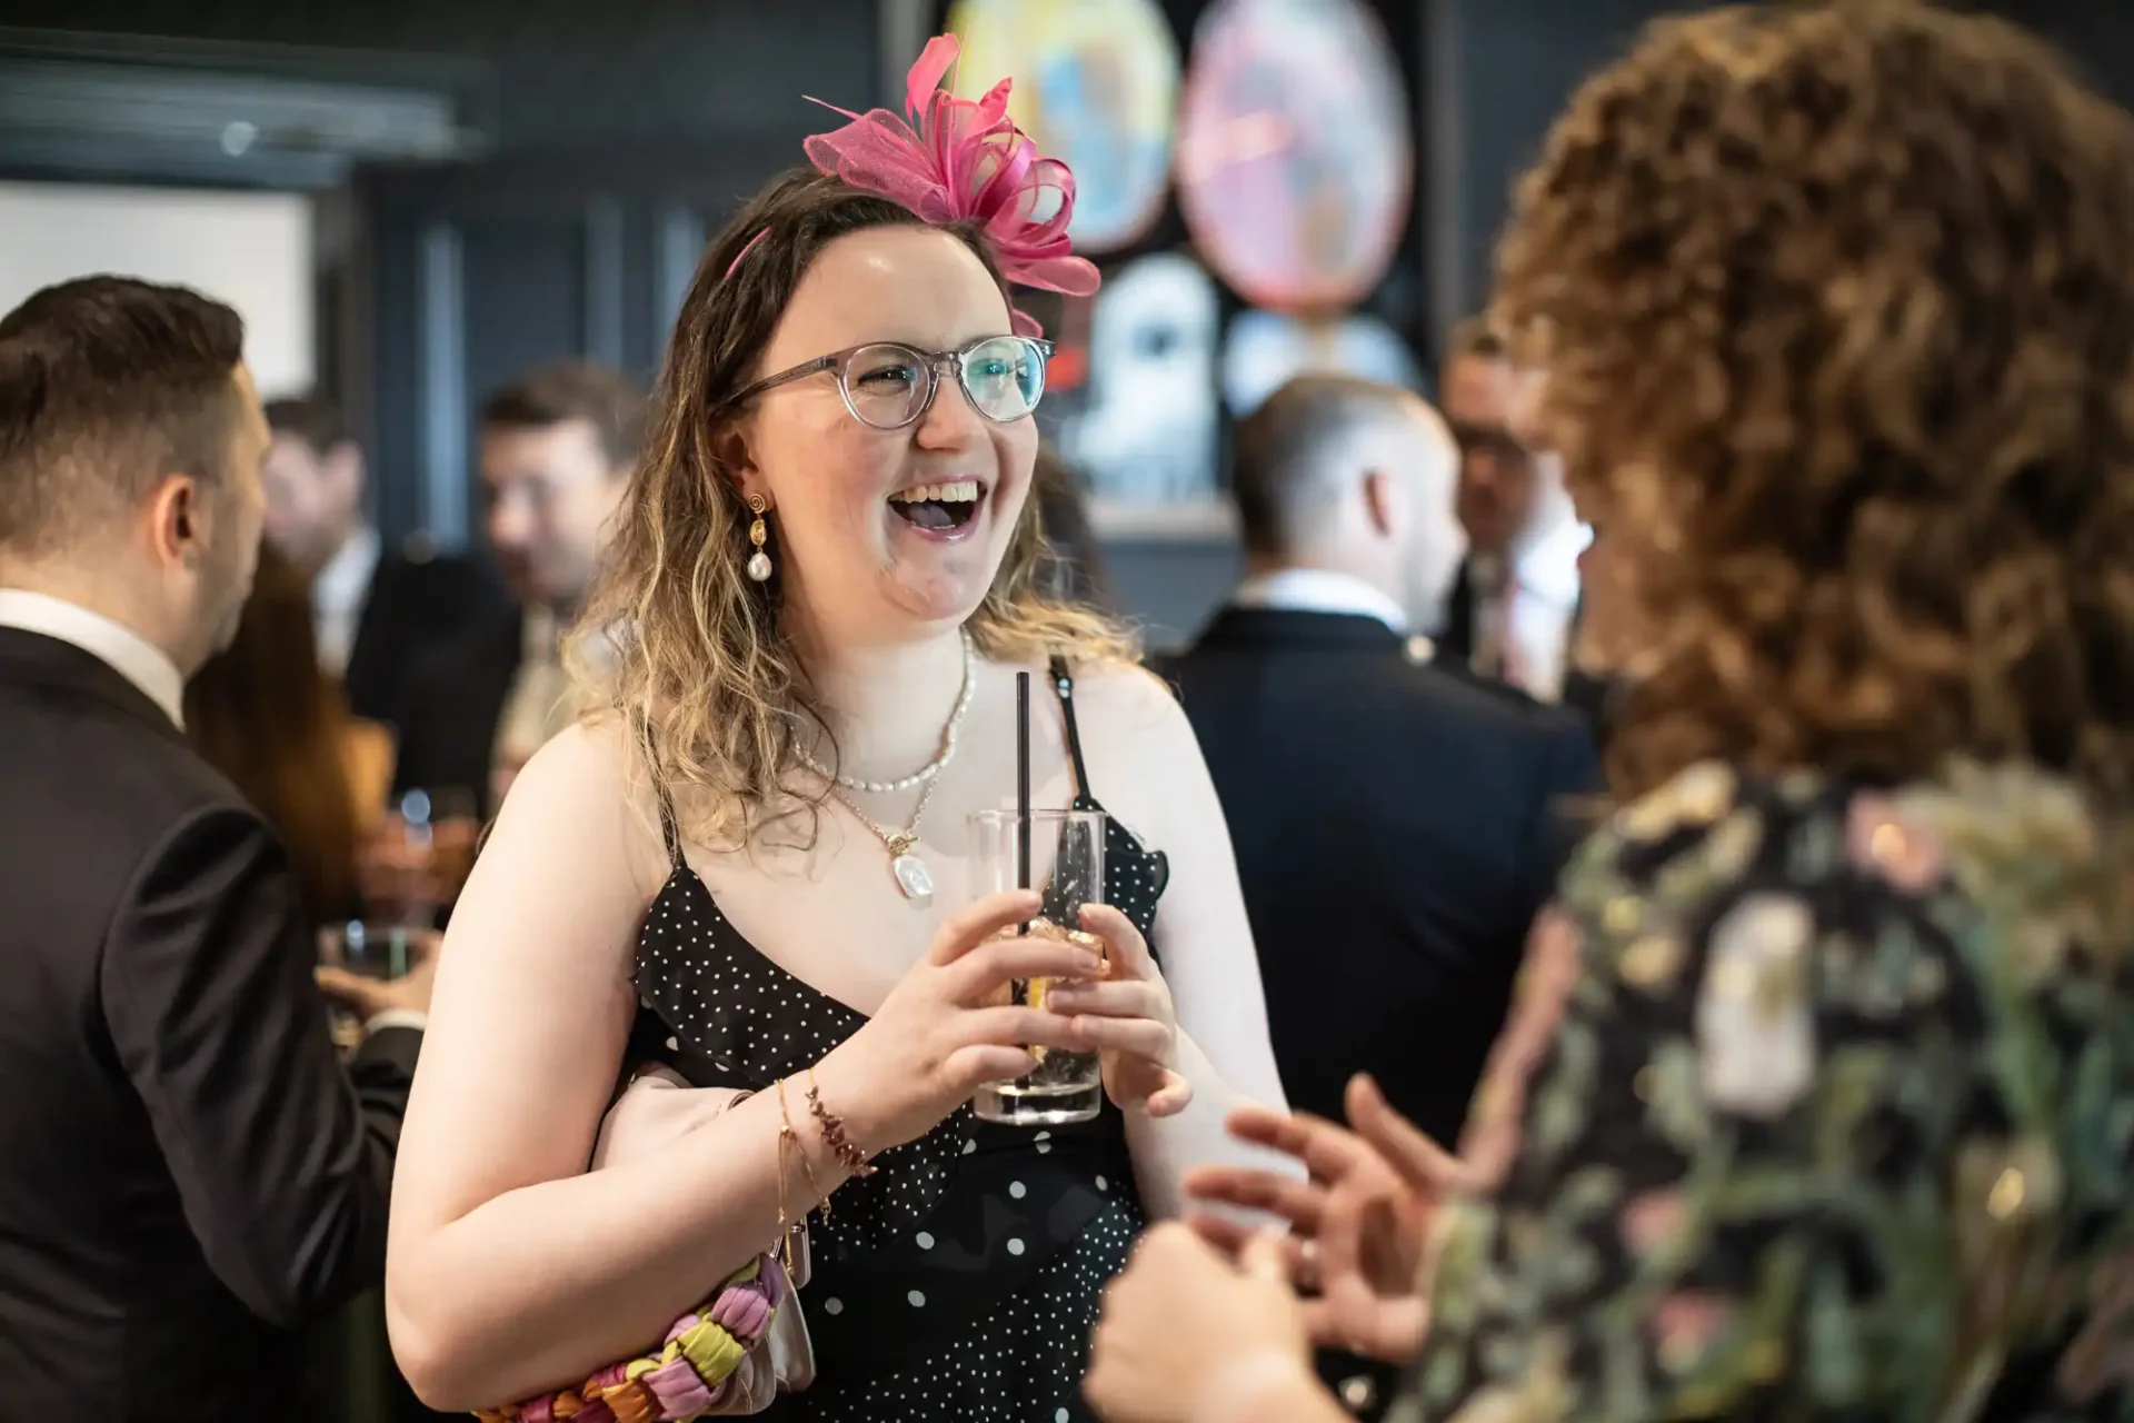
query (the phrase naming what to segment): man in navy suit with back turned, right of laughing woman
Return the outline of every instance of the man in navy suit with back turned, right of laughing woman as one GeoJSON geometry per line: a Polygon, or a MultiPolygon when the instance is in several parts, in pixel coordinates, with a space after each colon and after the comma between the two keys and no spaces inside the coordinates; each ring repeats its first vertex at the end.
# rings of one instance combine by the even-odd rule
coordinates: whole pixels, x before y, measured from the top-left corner
{"type": "MultiPolygon", "coordinates": [[[[1575,838],[1566,802],[1594,787],[1592,742],[1408,636],[1462,546],[1458,454],[1421,399],[1300,375],[1236,448],[1248,578],[1157,670],[1223,798],[1283,1086],[1342,1120],[1368,1071],[1451,1146],[1575,838]]],[[[1366,1412],[1389,1382],[1323,1368],[1366,1412]]]]}

